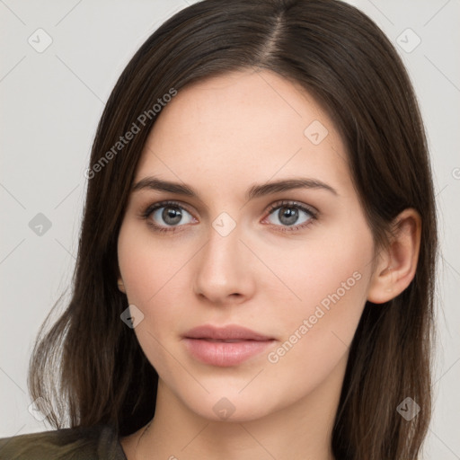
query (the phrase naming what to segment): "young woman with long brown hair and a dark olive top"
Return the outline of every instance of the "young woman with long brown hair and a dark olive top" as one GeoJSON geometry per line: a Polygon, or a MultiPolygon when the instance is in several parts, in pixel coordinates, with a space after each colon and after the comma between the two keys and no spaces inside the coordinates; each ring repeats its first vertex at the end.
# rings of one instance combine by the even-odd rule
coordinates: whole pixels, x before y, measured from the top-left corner
{"type": "Polygon", "coordinates": [[[0,458],[418,457],[433,185],[408,75],[367,16],[176,13],[119,77],[86,177],[74,294],[31,358],[57,429],[0,458]]]}

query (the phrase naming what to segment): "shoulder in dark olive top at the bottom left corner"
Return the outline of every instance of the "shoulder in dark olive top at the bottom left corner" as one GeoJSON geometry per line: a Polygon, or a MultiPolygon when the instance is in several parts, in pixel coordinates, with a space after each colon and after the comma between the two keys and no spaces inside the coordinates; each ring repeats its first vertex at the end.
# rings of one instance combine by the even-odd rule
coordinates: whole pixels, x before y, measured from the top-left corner
{"type": "Polygon", "coordinates": [[[109,425],[0,438],[0,460],[127,460],[109,425]]]}

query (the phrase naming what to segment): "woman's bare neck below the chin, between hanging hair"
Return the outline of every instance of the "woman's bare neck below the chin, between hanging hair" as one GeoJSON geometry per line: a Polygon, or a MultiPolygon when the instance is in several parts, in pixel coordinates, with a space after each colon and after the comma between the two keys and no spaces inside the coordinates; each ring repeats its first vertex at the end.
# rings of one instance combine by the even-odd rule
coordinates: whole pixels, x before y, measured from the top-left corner
{"type": "Polygon", "coordinates": [[[345,366],[346,359],[302,400],[259,419],[242,421],[200,417],[160,379],[155,418],[137,438],[136,460],[333,460],[332,427],[345,366]]]}

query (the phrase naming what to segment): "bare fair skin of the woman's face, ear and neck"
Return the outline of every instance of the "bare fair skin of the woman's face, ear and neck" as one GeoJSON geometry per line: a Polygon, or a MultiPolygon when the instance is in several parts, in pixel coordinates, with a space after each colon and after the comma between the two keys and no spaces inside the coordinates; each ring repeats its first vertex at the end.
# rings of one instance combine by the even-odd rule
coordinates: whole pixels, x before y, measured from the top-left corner
{"type": "Polygon", "coordinates": [[[152,424],[121,439],[128,460],[333,458],[332,423],[366,300],[383,303],[409,285],[420,244],[420,217],[406,209],[394,240],[375,256],[346,158],[314,98],[267,70],[202,80],[163,109],[135,183],[155,175],[190,185],[199,198],[135,191],[120,228],[119,289],[144,314],[134,332],[160,376],[152,424]],[[318,145],[304,134],[314,120],[328,130],[318,145]],[[244,198],[256,183],[293,177],[323,181],[336,194],[317,188],[244,198]],[[175,233],[147,225],[168,227],[163,209],[139,217],[166,199],[185,209],[175,233]],[[308,226],[283,232],[282,206],[268,210],[280,200],[314,207],[317,218],[296,208],[296,224],[308,226]],[[236,224],[226,236],[212,226],[222,212],[236,224]],[[353,273],[359,279],[340,300],[270,362],[268,354],[296,331],[298,338],[303,321],[353,273]],[[243,364],[213,367],[182,341],[205,323],[243,325],[276,341],[243,364]],[[234,406],[226,420],[213,410],[223,397],[234,406]]]}

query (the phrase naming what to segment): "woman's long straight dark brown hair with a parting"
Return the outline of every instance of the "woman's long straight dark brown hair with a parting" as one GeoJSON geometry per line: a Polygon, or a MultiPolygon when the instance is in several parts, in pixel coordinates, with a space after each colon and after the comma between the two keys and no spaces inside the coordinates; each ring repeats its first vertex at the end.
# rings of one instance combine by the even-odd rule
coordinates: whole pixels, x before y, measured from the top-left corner
{"type": "Polygon", "coordinates": [[[428,148],[410,79],[385,34],[337,0],[204,0],[176,13],[119,77],[93,142],[73,291],[31,357],[33,398],[56,428],[113,425],[120,436],[155,414],[158,375],[117,287],[117,240],[137,161],[165,94],[208,76],[270,69],[314,94],[349,153],[376,245],[404,208],[421,216],[415,278],[383,305],[367,302],[349,350],[332,449],[341,460],[414,459],[430,412],[430,352],[438,236],[428,148]],[[148,114],[140,123],[139,116],[148,114]],[[133,123],[138,132],[117,143],[133,123]],[[114,146],[116,146],[114,148],[114,146]],[[112,153],[112,155],[109,154],[112,153]],[[411,421],[396,411],[420,405],[411,421]]]}

